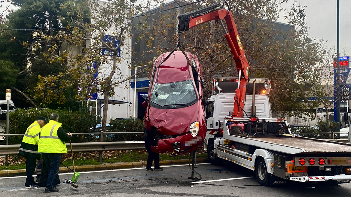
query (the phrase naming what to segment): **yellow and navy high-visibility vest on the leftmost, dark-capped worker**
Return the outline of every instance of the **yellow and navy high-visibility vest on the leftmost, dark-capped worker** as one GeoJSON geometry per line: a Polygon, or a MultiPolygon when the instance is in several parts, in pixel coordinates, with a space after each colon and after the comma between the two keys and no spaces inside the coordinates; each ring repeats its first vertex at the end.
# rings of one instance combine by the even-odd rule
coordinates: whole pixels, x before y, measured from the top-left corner
{"type": "Polygon", "coordinates": [[[34,121],[26,130],[18,154],[24,157],[34,157],[40,159],[38,154],[40,125],[34,121]]]}

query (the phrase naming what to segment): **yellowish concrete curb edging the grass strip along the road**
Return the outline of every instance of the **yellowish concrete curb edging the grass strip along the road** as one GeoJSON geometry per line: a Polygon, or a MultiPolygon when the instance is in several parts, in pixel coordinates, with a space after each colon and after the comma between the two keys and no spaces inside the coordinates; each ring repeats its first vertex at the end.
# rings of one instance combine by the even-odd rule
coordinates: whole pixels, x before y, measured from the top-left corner
{"type": "MultiPolygon", "coordinates": [[[[207,158],[197,158],[198,163],[207,162],[207,158]]],[[[177,159],[177,160],[166,160],[160,161],[160,165],[177,165],[177,164],[187,164],[189,163],[188,159],[177,159]]],[[[81,165],[76,166],[75,170],[78,172],[83,171],[98,171],[98,170],[114,170],[114,169],[123,169],[123,168],[141,168],[145,167],[147,162],[123,162],[123,163],[106,163],[99,165],[81,165]]],[[[69,167],[73,169],[73,167],[69,167]]],[[[60,167],[60,173],[72,172],[66,167],[60,167]]],[[[12,176],[25,176],[26,170],[0,170],[0,177],[12,177],[12,176]]]]}

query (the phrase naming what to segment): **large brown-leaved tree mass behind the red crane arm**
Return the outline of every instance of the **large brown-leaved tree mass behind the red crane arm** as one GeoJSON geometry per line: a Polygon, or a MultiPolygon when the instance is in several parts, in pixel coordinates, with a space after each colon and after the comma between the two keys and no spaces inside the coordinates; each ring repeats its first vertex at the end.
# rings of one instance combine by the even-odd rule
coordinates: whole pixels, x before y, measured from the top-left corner
{"type": "MultiPolygon", "coordinates": [[[[273,117],[312,115],[306,109],[315,108],[318,103],[311,101],[316,83],[315,64],[322,53],[318,41],[307,34],[308,27],[304,20],[305,8],[293,4],[287,11],[285,20],[289,28],[279,29],[274,23],[282,11],[279,0],[239,0],[230,1],[234,21],[237,25],[241,43],[249,61],[249,76],[268,78],[272,89],[269,95],[273,117]]],[[[180,5],[191,1],[180,2],[180,5]]],[[[215,3],[203,1],[191,6],[179,8],[180,13],[193,11],[215,3]]],[[[228,9],[229,9],[228,8],[228,9]]],[[[140,40],[149,37],[157,42],[145,42],[150,48],[144,53],[155,56],[170,51],[178,43],[185,50],[196,54],[203,66],[204,94],[211,94],[212,76],[238,76],[235,63],[221,25],[215,21],[194,27],[187,32],[177,34],[177,12],[159,12],[158,19],[146,30],[139,30],[140,40]]],[[[146,64],[152,59],[142,59],[146,64]]]]}

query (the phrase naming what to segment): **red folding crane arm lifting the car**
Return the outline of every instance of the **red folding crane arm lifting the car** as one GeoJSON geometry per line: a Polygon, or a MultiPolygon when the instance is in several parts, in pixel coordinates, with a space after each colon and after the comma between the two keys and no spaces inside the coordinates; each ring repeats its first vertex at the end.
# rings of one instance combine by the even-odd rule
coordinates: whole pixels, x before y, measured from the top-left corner
{"type": "Polygon", "coordinates": [[[235,91],[233,117],[243,117],[246,82],[249,75],[249,63],[247,62],[243,45],[241,44],[237,27],[232,12],[224,9],[219,3],[199,8],[195,11],[179,15],[178,31],[187,31],[203,23],[215,20],[219,21],[225,31],[225,38],[233,55],[239,74],[238,88],[235,91]],[[222,19],[225,19],[228,31],[222,19]]]}

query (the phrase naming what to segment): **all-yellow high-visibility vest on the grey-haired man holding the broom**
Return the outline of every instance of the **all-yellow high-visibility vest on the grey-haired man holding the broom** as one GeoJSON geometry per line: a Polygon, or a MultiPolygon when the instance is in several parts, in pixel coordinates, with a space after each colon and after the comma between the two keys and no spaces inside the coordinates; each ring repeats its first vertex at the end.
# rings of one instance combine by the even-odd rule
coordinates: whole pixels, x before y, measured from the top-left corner
{"type": "Polygon", "coordinates": [[[41,128],[39,136],[38,152],[43,153],[67,153],[66,143],[61,141],[57,135],[57,130],[62,123],[50,120],[41,128]]]}

